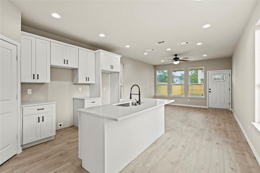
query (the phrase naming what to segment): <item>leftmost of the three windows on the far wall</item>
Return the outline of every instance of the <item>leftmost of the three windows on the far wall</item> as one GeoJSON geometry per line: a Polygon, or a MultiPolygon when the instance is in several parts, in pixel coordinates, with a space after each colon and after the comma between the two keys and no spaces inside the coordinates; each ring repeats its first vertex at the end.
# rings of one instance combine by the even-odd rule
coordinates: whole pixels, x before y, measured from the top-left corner
{"type": "Polygon", "coordinates": [[[156,95],[168,95],[168,71],[156,71],[156,95]]]}

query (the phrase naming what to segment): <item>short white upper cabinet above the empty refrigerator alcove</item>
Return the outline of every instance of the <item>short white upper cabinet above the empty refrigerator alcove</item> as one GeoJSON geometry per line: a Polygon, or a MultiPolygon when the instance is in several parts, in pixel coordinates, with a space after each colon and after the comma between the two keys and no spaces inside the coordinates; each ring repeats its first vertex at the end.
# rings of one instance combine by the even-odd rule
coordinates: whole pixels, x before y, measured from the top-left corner
{"type": "Polygon", "coordinates": [[[102,52],[102,70],[119,72],[120,57],[102,52]]]}

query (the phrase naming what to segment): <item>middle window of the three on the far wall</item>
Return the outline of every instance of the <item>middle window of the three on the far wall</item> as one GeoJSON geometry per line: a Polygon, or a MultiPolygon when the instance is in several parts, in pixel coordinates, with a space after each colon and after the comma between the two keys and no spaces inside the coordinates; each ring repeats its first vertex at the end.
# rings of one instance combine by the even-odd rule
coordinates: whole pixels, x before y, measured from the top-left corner
{"type": "Polygon", "coordinates": [[[171,70],[171,96],[184,96],[184,69],[171,70]]]}

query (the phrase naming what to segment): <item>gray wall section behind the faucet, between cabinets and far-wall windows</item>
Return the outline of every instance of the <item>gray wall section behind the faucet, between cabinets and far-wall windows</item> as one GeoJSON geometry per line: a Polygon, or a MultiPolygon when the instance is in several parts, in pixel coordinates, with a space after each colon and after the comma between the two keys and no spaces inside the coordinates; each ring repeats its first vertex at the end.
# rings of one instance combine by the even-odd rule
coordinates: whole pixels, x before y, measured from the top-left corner
{"type": "MultiPolygon", "coordinates": [[[[133,84],[140,86],[142,98],[153,98],[154,65],[126,57],[121,57],[121,63],[123,63],[123,99],[129,99],[130,88],[133,84]]],[[[133,88],[132,93],[138,93],[136,86],[133,88]]],[[[133,95],[132,98],[138,100],[138,95],[133,95]]]]}

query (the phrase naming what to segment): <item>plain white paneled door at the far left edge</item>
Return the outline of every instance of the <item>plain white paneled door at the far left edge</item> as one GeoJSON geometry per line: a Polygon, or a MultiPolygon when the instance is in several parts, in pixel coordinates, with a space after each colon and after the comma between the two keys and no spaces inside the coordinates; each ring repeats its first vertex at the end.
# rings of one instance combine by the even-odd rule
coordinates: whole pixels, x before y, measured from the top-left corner
{"type": "Polygon", "coordinates": [[[17,153],[17,49],[0,42],[0,164],[17,153]]]}

